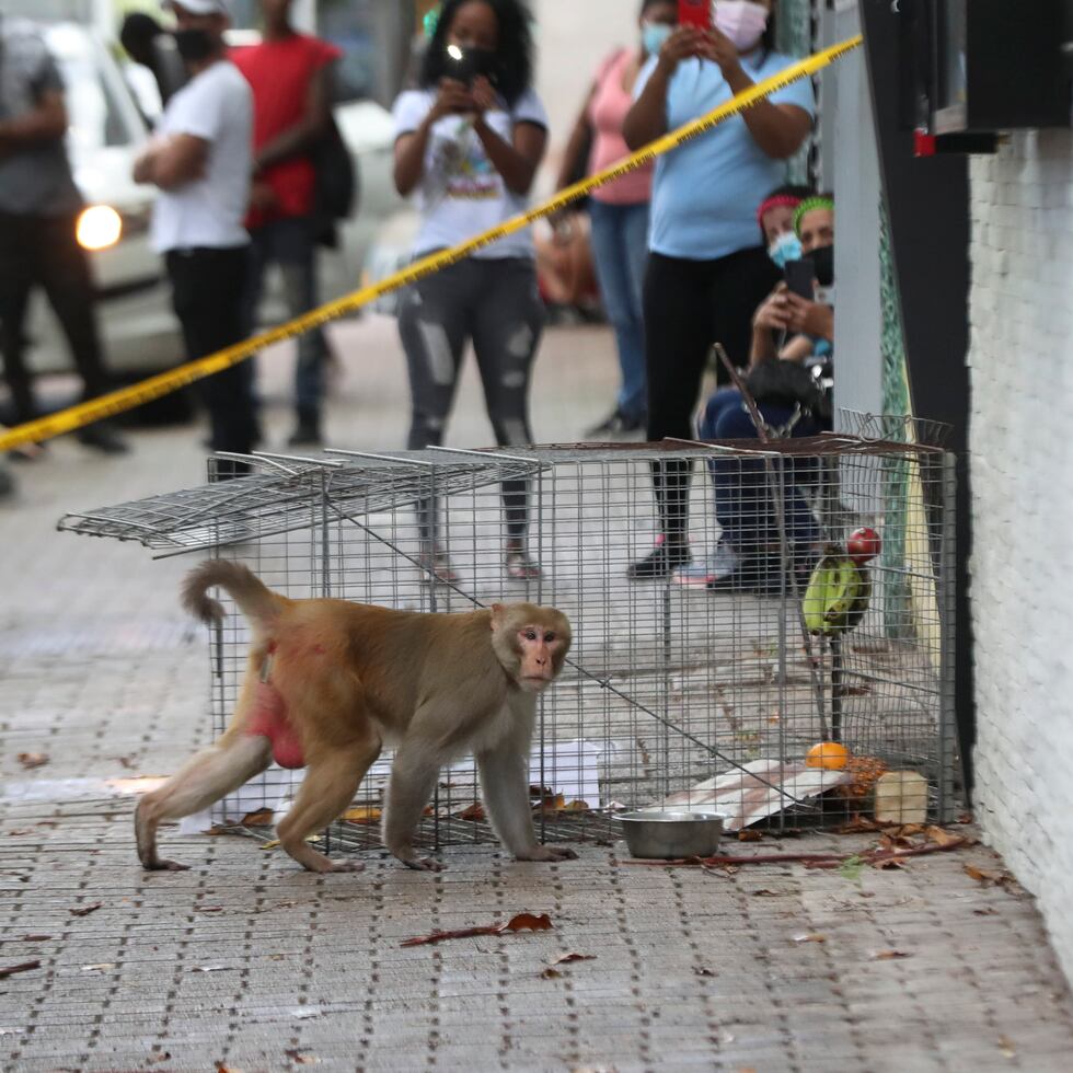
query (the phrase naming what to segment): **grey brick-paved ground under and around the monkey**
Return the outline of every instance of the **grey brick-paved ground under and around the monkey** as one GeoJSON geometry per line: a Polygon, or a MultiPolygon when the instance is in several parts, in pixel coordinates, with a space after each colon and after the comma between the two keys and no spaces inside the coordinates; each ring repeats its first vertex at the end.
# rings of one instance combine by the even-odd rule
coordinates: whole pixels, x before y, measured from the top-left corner
{"type": "MultiPolygon", "coordinates": [[[[390,330],[339,333],[333,439],[397,446],[390,330]]],[[[610,401],[610,339],[553,333],[541,361],[538,432],[574,438],[610,401]]],[[[277,400],[282,372],[263,380],[277,400]]],[[[452,442],[488,439],[474,388],[452,442]]],[[[278,435],[286,415],[269,416],[278,435]]],[[[966,874],[1002,873],[979,846],[859,882],[799,865],[635,866],[621,844],[556,866],[452,849],[438,876],[369,854],[361,874],[318,877],[252,840],[168,828],[164,852],[192,870],[145,874],[138,780],[208,737],[206,646],[175,597],[188,563],[51,527],[199,483],[196,439],[141,435],[128,460],[56,443],[0,510],[0,969],[41,961],[0,979],[0,1069],[1070,1069],[1070,991],[1031,899],[966,874]],[[48,761],[27,770],[20,753],[48,761]],[[400,945],[524,910],[554,931],[400,945]],[[553,967],[564,953],[592,957],[553,967]]]]}

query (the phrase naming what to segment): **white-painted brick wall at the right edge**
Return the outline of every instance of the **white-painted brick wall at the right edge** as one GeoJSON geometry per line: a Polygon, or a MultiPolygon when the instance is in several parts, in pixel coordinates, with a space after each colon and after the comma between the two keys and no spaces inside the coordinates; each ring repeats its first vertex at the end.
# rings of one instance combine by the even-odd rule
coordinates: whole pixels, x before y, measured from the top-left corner
{"type": "Polygon", "coordinates": [[[1073,977],[1073,135],[971,169],[976,811],[1073,977]]]}

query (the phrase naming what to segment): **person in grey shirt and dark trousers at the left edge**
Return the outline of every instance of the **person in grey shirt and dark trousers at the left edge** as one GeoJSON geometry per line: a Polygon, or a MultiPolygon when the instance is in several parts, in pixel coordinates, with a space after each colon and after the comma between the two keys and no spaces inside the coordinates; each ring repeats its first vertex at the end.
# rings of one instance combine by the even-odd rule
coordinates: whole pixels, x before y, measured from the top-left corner
{"type": "MultiPolygon", "coordinates": [[[[24,358],[26,309],[36,287],[64,328],[82,397],[109,386],[90,264],[77,238],[82,195],[67,157],[67,125],[64,81],[41,32],[0,13],[0,356],[18,424],[39,416],[24,358]]],[[[127,450],[103,422],[76,437],[105,453],[127,450]]],[[[39,452],[16,448],[11,457],[21,461],[39,452]]],[[[0,480],[0,491],[8,486],[10,478],[0,480]]]]}

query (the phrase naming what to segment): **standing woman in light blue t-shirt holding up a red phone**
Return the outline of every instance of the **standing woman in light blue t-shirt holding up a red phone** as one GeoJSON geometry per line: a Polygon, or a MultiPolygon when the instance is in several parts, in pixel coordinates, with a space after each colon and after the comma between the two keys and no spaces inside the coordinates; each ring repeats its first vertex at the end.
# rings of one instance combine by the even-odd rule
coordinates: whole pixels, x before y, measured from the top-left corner
{"type": "MultiPolygon", "coordinates": [[[[680,23],[684,15],[680,8],[680,23]]],[[[773,43],[771,0],[717,0],[709,27],[680,24],[637,79],[623,124],[627,146],[638,149],[788,67],[773,43]]],[[[757,239],[757,209],[785,181],[785,161],[808,137],[814,112],[811,85],[798,80],[656,164],[644,295],[651,440],[689,438],[714,342],[735,364],[748,360],[753,311],[778,279],[757,239]]],[[[690,559],[689,468],[657,463],[653,477],[660,539],[631,566],[638,580],[690,559]]]]}

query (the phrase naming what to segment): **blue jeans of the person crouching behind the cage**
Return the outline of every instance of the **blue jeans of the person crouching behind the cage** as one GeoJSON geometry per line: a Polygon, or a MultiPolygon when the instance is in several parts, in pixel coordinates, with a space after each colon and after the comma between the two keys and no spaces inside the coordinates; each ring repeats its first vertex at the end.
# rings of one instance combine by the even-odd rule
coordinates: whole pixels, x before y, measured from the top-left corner
{"type": "MultiPolygon", "coordinates": [[[[785,425],[793,408],[773,403],[758,406],[769,425],[785,425]]],[[[792,437],[816,436],[820,425],[804,416],[793,428],[792,437]]],[[[724,388],[707,401],[697,432],[706,440],[757,440],[757,429],[736,388],[724,388]]],[[[816,460],[786,458],[783,461],[783,514],[791,546],[804,550],[822,540],[822,532],[799,484],[815,481],[816,460]]],[[[778,462],[774,460],[774,478],[778,462]]],[[[777,547],[778,526],[766,468],[759,459],[740,457],[708,462],[715,485],[715,517],[723,529],[722,540],[742,555],[757,555],[777,547]]],[[[775,485],[777,487],[777,485],[775,485]]]]}

